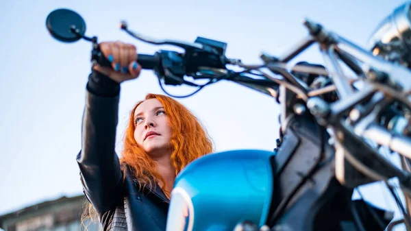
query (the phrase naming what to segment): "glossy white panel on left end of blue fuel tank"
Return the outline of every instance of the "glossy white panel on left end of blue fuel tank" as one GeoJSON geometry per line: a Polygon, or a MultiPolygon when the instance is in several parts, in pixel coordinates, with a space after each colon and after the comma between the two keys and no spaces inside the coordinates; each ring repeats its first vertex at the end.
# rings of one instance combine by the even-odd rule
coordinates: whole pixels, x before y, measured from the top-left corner
{"type": "Polygon", "coordinates": [[[194,207],[188,193],[179,187],[171,191],[166,231],[192,231],[194,207]]]}

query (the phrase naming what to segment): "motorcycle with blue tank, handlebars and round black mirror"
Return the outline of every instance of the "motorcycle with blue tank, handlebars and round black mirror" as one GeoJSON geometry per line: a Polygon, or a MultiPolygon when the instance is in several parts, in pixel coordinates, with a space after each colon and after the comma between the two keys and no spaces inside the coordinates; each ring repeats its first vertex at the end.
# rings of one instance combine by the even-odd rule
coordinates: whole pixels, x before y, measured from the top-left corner
{"type": "MultiPolygon", "coordinates": [[[[194,95],[227,80],[272,97],[282,109],[273,151],[217,152],[177,175],[166,229],[374,231],[404,223],[411,230],[410,8],[411,2],[404,3],[387,16],[368,49],[306,19],[308,36],[282,56],[262,53],[262,64],[227,58],[225,42],[158,40],[121,22],[121,29],[138,40],[184,49],[138,55],[142,69],[155,72],[167,95],[163,84],[197,87],[194,95]],[[313,44],[319,44],[325,66],[288,64],[313,44]],[[347,76],[341,64],[356,76],[347,76]],[[379,154],[382,148],[401,156],[401,169],[379,154]],[[406,208],[388,183],[391,178],[398,179],[406,208]],[[392,213],[351,199],[356,187],[377,181],[386,182],[403,219],[392,221],[392,213]]],[[[91,62],[111,66],[97,37],[85,36],[86,23],[73,10],[54,10],[46,26],[62,42],[92,42],[91,62]]]]}

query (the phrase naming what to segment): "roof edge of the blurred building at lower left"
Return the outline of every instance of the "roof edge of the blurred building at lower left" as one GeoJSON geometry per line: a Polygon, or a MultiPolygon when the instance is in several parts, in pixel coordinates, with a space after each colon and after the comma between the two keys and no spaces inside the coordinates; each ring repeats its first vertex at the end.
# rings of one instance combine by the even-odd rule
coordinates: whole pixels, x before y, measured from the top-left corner
{"type": "Polygon", "coordinates": [[[6,221],[8,219],[20,217],[22,215],[26,215],[26,214],[29,214],[31,212],[35,212],[37,210],[40,210],[42,208],[46,208],[48,206],[53,206],[55,204],[64,204],[66,202],[76,202],[76,201],[79,201],[81,199],[84,199],[83,194],[82,195],[77,195],[77,196],[74,196],[74,197],[65,197],[64,196],[64,197],[60,197],[58,199],[53,199],[53,200],[41,202],[39,204],[34,204],[32,206],[27,206],[25,208],[15,210],[13,212],[9,212],[9,213],[4,214],[4,215],[0,215],[0,228],[3,228],[4,221],[6,221]]]}

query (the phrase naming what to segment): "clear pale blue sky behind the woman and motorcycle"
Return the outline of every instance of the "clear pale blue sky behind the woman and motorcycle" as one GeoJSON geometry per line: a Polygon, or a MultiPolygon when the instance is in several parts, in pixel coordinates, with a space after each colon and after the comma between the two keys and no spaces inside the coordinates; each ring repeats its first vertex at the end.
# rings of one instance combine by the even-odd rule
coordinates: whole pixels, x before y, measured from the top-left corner
{"type": "MultiPolygon", "coordinates": [[[[142,53],[153,53],[159,47],[130,38],[119,29],[119,21],[125,19],[137,32],[157,38],[192,41],[196,36],[205,36],[222,40],[228,42],[227,56],[260,63],[261,51],[280,55],[306,36],[301,24],[306,16],[358,45],[366,45],[377,23],[401,3],[402,0],[0,1],[0,214],[45,199],[82,193],[75,156],[81,146],[91,47],[86,41],[67,45],[51,38],[45,28],[51,10],[76,10],[86,19],[89,36],[134,42],[142,53]]],[[[299,60],[322,62],[316,47],[299,60]]],[[[146,93],[162,93],[151,71],[123,84],[119,145],[127,113],[146,93]]],[[[218,151],[275,147],[279,107],[269,97],[222,82],[181,101],[206,125],[218,151]]],[[[384,192],[379,187],[364,189],[367,199],[395,209],[384,192]]]]}

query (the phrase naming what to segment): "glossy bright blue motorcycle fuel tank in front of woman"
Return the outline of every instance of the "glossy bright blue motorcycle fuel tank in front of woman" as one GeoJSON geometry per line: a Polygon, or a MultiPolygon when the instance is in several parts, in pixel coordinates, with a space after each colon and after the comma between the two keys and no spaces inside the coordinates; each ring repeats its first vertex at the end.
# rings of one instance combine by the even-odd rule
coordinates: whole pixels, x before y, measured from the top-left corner
{"type": "Polygon", "coordinates": [[[273,196],[275,152],[223,151],[186,166],[171,193],[167,231],[232,231],[240,221],[263,226],[273,196]]]}

